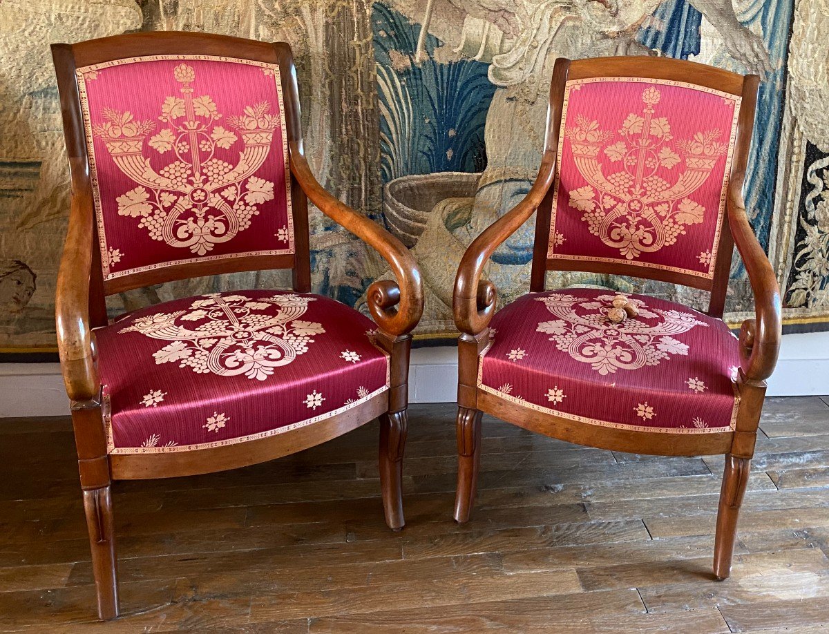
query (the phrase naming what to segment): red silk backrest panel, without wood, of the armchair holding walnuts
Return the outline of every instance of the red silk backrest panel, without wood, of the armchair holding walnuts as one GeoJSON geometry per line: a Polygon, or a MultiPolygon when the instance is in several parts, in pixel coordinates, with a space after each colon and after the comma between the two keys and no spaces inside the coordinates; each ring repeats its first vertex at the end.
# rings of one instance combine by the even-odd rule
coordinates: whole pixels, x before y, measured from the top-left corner
{"type": "Polygon", "coordinates": [[[739,104],[676,81],[567,82],[547,257],[713,278],[739,104]]]}

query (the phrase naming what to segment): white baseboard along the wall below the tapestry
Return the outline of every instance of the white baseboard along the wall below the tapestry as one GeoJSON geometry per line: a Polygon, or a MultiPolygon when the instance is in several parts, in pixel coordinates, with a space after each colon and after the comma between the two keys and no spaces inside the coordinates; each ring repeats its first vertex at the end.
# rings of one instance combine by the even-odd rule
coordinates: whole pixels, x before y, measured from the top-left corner
{"type": "MultiPolygon", "coordinates": [[[[453,403],[458,355],[453,346],[412,351],[411,403],[453,403]]],[[[829,332],[786,335],[768,380],[769,396],[829,394],[829,332]]],[[[69,404],[56,363],[0,364],[0,417],[63,416],[69,404]]]]}

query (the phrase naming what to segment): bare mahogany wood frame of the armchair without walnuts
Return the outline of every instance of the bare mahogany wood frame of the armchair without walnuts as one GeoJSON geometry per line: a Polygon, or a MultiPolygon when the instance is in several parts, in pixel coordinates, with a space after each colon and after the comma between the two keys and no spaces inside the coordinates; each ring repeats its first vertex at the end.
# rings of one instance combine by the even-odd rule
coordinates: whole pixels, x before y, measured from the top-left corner
{"type": "Polygon", "coordinates": [[[338,201],[313,176],[303,152],[297,75],[288,44],[162,31],[104,37],[71,46],[56,44],[52,46],[52,56],[61,95],[72,192],[69,230],[56,294],[58,350],[75,428],[99,617],[107,620],[119,613],[111,496],[113,480],[179,477],[244,467],[324,443],[379,417],[385,521],[390,528],[400,530],[404,525],[401,477],[407,426],[410,332],[420,319],[424,301],[420,274],[414,258],[400,240],[338,201]],[[75,69],[148,55],[229,56],[279,65],[284,93],[282,106],[288,130],[295,254],[179,264],[104,281],[75,69]],[[308,293],[311,290],[308,200],[377,249],[395,273],[396,283],[378,281],[371,284],[368,291],[371,315],[378,325],[377,344],[390,355],[390,390],[320,423],[269,438],[187,453],[108,455],[93,331],[95,327],[107,324],[106,296],[174,279],[256,269],[292,269],[294,290],[308,293]]]}

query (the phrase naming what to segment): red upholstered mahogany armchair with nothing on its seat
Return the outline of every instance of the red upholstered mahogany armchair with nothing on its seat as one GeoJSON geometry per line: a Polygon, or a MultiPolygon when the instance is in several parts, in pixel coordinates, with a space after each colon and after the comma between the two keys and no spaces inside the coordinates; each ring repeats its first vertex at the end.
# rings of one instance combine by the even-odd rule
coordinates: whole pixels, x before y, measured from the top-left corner
{"type": "Polygon", "coordinates": [[[155,32],[52,54],[72,188],[57,336],[99,617],[119,613],[114,480],[243,467],[379,417],[385,521],[399,530],[419,272],[313,176],[288,45],[155,32]],[[308,200],[389,261],[397,282],[368,293],[375,322],[310,293],[308,200]],[[293,291],[107,317],[114,293],[255,269],[292,269],[293,291]]]}

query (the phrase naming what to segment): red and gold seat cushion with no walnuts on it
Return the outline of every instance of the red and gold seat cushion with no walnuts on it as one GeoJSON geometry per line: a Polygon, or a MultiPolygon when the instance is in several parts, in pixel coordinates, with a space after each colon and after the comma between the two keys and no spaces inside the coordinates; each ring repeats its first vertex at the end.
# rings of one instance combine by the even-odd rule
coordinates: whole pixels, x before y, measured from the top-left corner
{"type": "Polygon", "coordinates": [[[177,299],[95,331],[110,453],[244,442],[388,390],[374,323],[332,299],[251,290],[177,299]]]}

